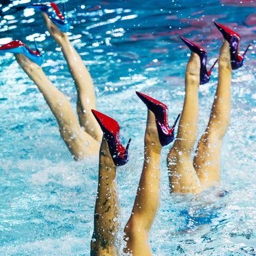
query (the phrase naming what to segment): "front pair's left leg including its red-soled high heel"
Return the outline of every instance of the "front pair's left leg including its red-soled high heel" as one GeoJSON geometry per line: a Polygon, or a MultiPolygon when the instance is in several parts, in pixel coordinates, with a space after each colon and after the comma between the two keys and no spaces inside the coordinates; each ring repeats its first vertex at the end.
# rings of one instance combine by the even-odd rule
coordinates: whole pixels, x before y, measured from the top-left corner
{"type": "Polygon", "coordinates": [[[120,247],[117,246],[117,233],[120,229],[115,176],[117,166],[128,162],[130,142],[126,148],[123,147],[118,123],[107,115],[96,110],[92,111],[104,136],[99,151],[99,179],[94,210],[91,256],[115,256],[120,255],[120,247]]]}

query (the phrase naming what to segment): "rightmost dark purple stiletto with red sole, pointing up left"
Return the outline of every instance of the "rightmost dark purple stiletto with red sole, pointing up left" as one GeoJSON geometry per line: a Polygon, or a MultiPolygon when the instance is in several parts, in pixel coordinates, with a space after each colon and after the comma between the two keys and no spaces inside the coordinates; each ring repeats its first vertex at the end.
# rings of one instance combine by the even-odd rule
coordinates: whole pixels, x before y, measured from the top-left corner
{"type": "Polygon", "coordinates": [[[226,39],[226,41],[228,41],[229,43],[232,69],[242,67],[244,63],[244,56],[246,56],[246,52],[248,51],[250,44],[249,46],[247,46],[246,51],[244,51],[244,54],[242,54],[242,56],[239,55],[239,44],[241,36],[220,23],[214,22],[214,24],[218,28],[218,30],[220,30],[221,34],[226,39]]]}

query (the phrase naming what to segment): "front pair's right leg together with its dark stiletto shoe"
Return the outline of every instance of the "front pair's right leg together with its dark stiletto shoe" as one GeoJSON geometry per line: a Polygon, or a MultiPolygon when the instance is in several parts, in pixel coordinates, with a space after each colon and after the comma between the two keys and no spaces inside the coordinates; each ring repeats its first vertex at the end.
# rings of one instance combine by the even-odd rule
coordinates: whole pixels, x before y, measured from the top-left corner
{"type": "MultiPolygon", "coordinates": [[[[138,190],[125,226],[125,252],[133,256],[152,255],[149,231],[160,200],[160,156],[163,146],[174,139],[174,128],[167,123],[167,106],[142,93],[137,93],[147,105],[147,126],[144,137],[144,164],[138,190]]],[[[177,121],[177,120],[176,120],[177,121]]],[[[176,124],[176,122],[175,122],[176,124]]]]}

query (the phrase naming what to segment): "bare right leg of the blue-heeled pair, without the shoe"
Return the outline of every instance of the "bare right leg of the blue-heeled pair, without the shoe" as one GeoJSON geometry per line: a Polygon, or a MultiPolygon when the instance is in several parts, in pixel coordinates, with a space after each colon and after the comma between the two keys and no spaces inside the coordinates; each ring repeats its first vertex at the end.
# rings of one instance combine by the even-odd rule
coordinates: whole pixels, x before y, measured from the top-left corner
{"type": "Polygon", "coordinates": [[[96,109],[96,96],[91,75],[78,52],[76,52],[75,48],[68,40],[67,34],[60,31],[46,14],[43,13],[42,15],[49,32],[56,43],[61,47],[65,59],[67,60],[68,68],[75,81],[78,93],[77,112],[80,125],[83,126],[85,131],[93,136],[93,138],[97,141],[101,141],[102,131],[91,113],[91,109],[96,109]]]}

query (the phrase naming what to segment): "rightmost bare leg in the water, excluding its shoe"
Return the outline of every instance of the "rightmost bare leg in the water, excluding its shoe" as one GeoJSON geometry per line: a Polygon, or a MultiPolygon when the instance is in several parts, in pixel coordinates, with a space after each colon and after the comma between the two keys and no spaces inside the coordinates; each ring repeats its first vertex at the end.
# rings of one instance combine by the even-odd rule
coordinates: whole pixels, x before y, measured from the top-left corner
{"type": "Polygon", "coordinates": [[[231,76],[229,44],[220,49],[218,87],[207,128],[197,145],[194,168],[204,187],[220,180],[220,153],[223,136],[229,125],[231,107],[231,76]]]}

